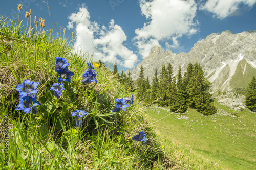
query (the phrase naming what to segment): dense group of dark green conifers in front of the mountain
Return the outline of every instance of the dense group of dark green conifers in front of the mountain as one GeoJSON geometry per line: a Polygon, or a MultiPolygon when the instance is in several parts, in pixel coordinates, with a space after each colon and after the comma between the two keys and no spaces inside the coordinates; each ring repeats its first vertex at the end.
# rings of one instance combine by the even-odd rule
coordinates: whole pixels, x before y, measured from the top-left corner
{"type": "Polygon", "coordinates": [[[197,62],[189,63],[182,76],[181,66],[174,76],[172,64],[162,65],[160,74],[154,70],[154,78],[150,85],[149,78],[145,79],[143,66],[140,67],[139,78],[136,80],[136,97],[146,103],[155,103],[169,107],[170,111],[183,113],[188,107],[197,109],[204,115],[217,112],[212,105],[211,83],[205,78],[203,68],[197,62]]]}

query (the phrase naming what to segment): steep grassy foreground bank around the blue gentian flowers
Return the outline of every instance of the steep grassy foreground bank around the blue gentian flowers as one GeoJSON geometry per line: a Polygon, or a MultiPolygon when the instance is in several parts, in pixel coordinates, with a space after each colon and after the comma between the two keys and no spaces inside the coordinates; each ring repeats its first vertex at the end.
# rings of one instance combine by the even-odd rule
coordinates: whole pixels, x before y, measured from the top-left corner
{"type": "Polygon", "coordinates": [[[111,113],[115,98],[132,94],[108,67],[95,68],[97,84],[82,84],[86,63],[93,62],[89,54],[72,52],[71,40],[54,37],[52,30],[39,32],[32,25],[32,31],[24,33],[21,23],[0,17],[0,119],[8,116],[0,124],[1,169],[152,169],[154,161],[158,169],[178,165],[145,123],[138,101],[125,112],[111,113]],[[71,83],[65,82],[66,90],[58,100],[49,90],[58,78],[55,56],[66,58],[75,73],[71,83]],[[15,110],[19,101],[15,86],[27,79],[39,82],[37,101],[41,105],[36,115],[15,110]],[[75,110],[89,113],[80,129],[71,117],[75,110]],[[3,133],[5,123],[9,136],[3,133]],[[142,130],[147,135],[145,143],[131,140],[142,130]],[[9,141],[5,151],[4,140],[9,141]]]}

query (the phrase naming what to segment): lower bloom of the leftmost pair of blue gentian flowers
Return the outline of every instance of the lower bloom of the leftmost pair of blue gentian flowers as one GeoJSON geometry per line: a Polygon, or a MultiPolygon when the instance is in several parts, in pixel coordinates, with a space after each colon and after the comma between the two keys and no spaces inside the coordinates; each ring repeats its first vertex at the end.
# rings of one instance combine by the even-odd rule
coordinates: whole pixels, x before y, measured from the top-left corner
{"type": "Polygon", "coordinates": [[[31,113],[32,111],[32,114],[36,114],[38,113],[36,108],[37,105],[41,104],[36,101],[36,98],[25,96],[23,98],[19,98],[19,104],[16,106],[16,110],[23,110],[26,114],[31,113]]]}

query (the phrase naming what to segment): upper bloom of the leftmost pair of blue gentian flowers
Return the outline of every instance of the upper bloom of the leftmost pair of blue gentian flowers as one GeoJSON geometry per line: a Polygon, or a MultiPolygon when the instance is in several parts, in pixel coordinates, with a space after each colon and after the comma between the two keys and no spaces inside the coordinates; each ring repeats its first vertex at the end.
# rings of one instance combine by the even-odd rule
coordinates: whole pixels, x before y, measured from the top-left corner
{"type": "Polygon", "coordinates": [[[39,82],[33,82],[28,79],[24,80],[22,84],[17,85],[15,89],[19,92],[20,97],[31,96],[36,98],[38,84],[39,82]]]}

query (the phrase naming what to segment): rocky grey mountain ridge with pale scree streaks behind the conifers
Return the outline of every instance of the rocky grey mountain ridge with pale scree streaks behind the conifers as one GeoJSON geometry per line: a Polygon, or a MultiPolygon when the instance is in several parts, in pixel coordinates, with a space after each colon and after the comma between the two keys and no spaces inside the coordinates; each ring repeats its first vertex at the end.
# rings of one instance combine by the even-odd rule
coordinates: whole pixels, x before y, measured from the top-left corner
{"type": "Polygon", "coordinates": [[[184,74],[190,62],[202,65],[213,92],[245,88],[252,76],[256,76],[256,31],[213,33],[198,41],[188,53],[164,52],[154,46],[149,56],[131,70],[132,78],[138,78],[141,65],[145,77],[152,79],[156,67],[159,73],[161,65],[171,63],[176,74],[181,65],[184,74]]]}

